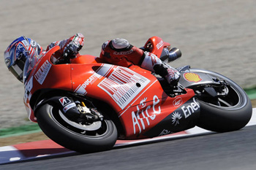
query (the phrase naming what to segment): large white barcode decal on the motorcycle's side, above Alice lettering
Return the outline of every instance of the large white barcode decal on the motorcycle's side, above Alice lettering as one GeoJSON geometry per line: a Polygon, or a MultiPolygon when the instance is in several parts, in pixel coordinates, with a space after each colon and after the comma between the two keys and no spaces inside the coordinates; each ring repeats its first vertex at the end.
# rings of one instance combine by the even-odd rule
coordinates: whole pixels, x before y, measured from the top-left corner
{"type": "Polygon", "coordinates": [[[108,93],[121,109],[124,109],[149,82],[146,77],[118,66],[108,77],[99,82],[98,87],[108,93]]]}

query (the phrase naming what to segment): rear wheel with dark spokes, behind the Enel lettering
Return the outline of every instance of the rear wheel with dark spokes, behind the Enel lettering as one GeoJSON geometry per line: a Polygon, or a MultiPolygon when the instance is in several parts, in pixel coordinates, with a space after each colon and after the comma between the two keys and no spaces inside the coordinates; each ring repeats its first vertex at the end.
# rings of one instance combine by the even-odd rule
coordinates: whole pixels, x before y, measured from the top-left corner
{"type": "Polygon", "coordinates": [[[216,72],[191,69],[191,72],[208,74],[213,80],[222,81],[221,87],[211,86],[218,95],[212,97],[206,87],[194,87],[200,103],[200,119],[197,125],[209,131],[225,132],[243,128],[252,117],[252,104],[244,90],[229,78],[216,72]],[[224,95],[225,94],[225,95],[224,95]]]}

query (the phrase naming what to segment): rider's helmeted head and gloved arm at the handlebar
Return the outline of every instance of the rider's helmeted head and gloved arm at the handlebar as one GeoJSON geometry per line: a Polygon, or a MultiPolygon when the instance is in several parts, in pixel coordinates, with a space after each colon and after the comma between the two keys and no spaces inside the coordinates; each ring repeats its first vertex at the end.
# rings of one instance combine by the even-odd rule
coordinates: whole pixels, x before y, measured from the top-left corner
{"type": "Polygon", "coordinates": [[[50,48],[59,45],[60,50],[57,51],[54,57],[59,60],[69,61],[67,58],[75,58],[78,51],[83,47],[84,36],[83,34],[75,34],[69,39],[62,41],[52,42],[48,45],[46,50],[42,50],[42,47],[33,39],[20,36],[15,39],[4,51],[4,61],[12,74],[23,82],[23,69],[27,58],[31,58],[37,62],[39,55],[43,55],[50,48]]]}

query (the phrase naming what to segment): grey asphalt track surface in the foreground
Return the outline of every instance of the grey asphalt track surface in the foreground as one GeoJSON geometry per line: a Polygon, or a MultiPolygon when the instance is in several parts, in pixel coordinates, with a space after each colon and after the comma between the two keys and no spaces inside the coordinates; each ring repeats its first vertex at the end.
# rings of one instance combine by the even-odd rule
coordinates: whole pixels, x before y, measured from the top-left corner
{"type": "Polygon", "coordinates": [[[253,170],[256,126],[228,133],[198,134],[105,152],[69,153],[1,165],[0,169],[197,169],[253,170]]]}

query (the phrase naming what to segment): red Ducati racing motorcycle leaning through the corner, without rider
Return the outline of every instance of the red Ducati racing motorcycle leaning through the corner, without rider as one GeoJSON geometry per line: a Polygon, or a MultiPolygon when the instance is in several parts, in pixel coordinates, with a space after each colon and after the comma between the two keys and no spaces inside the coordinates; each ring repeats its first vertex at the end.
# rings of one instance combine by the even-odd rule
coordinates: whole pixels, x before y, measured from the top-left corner
{"type": "MultiPolygon", "coordinates": [[[[157,36],[143,48],[165,63],[181,55],[157,36]]],[[[170,88],[162,77],[139,66],[102,63],[92,55],[57,64],[57,50],[59,46],[39,56],[37,63],[26,61],[24,104],[29,119],[69,150],[109,150],[117,139],[152,138],[195,125],[236,131],[252,116],[244,90],[216,72],[177,68],[181,78],[170,88]]]]}

